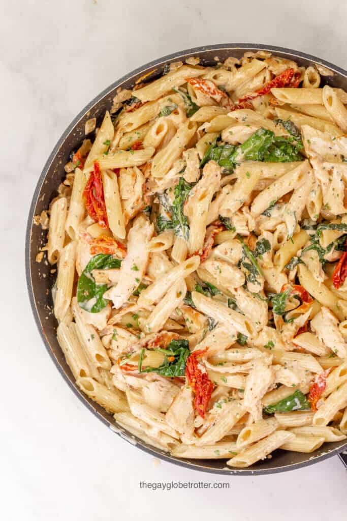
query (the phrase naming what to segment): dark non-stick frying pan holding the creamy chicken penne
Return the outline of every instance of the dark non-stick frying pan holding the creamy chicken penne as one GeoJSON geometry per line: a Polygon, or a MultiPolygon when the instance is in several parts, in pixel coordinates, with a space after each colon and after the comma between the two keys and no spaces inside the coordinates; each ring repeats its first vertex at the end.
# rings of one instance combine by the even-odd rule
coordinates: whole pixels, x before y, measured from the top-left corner
{"type": "Polygon", "coordinates": [[[96,117],[97,125],[100,125],[105,110],[110,108],[112,98],[115,96],[116,90],[119,87],[131,89],[137,79],[149,72],[150,74],[146,77],[146,81],[151,81],[161,75],[165,65],[170,64],[172,61],[184,61],[189,56],[199,57],[200,63],[203,65],[215,65],[216,57],[220,61],[224,61],[228,56],[240,58],[243,53],[247,51],[257,51],[260,49],[271,51],[283,58],[293,59],[297,61],[299,65],[305,67],[313,64],[321,64],[333,72],[332,76],[323,78],[324,81],[329,85],[347,90],[347,72],[345,70],[320,58],[316,58],[315,56],[310,56],[299,51],[292,51],[291,49],[282,47],[243,43],[210,45],[187,49],[186,51],[177,52],[155,61],[151,61],[143,67],[140,67],[117,80],[115,83],[112,83],[112,85],[94,98],[94,100],[75,117],[66,131],[63,132],[61,138],[48,157],[41,176],[38,179],[30,207],[25,240],[27,285],[36,325],[41,333],[45,348],[59,370],[59,373],[66,380],[78,399],[81,400],[89,411],[91,411],[109,429],[117,433],[117,435],[121,436],[126,441],[135,444],[139,449],[144,450],[161,460],[214,474],[272,474],[304,467],[306,465],[313,465],[314,463],[325,460],[335,454],[340,455],[341,460],[347,467],[347,442],[344,440],[324,444],[320,449],[311,454],[286,452],[278,449],[273,453],[272,458],[258,462],[250,468],[232,469],[226,466],[224,460],[181,460],[170,456],[159,449],[153,448],[144,441],[131,435],[123,428],[117,426],[115,420],[110,414],[95,402],[87,398],[87,396],[76,387],[72,373],[59,347],[56,338],[57,321],[53,314],[53,302],[50,291],[55,281],[56,274],[50,273],[50,266],[48,263],[44,261],[41,263],[36,262],[37,253],[46,242],[46,232],[42,231],[41,227],[33,224],[33,217],[46,209],[49,202],[57,195],[57,188],[65,178],[63,166],[69,160],[70,152],[78,148],[84,139],[85,121],[91,117],[96,117]]]}

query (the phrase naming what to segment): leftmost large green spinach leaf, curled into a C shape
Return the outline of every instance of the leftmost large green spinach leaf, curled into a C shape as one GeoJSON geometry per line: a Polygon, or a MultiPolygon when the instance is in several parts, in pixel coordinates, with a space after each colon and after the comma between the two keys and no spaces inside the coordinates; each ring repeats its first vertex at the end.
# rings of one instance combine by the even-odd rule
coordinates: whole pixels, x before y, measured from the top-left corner
{"type": "Polygon", "coordinates": [[[89,313],[98,313],[108,304],[103,298],[107,284],[97,284],[93,277],[93,269],[120,268],[122,261],[112,255],[99,253],[95,255],[84,268],[77,284],[77,301],[79,306],[89,313]]]}

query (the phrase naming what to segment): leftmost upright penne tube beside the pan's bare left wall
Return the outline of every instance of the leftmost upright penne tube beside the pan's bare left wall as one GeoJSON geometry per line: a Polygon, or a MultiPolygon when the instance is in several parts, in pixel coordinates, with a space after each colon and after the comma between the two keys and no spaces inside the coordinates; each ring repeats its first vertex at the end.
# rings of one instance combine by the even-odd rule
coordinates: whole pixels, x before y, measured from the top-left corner
{"type": "Polygon", "coordinates": [[[49,264],[55,264],[65,241],[65,223],[68,212],[66,197],[59,197],[50,209],[47,257],[49,264]]]}

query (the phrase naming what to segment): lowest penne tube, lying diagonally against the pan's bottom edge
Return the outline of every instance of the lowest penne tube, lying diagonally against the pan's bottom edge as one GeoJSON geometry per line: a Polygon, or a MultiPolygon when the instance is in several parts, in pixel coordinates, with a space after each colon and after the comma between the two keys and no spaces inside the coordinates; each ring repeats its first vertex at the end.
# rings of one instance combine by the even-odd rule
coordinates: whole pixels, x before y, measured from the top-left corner
{"type": "Polygon", "coordinates": [[[285,430],[277,430],[266,438],[254,443],[253,445],[243,449],[241,452],[227,461],[230,467],[245,468],[253,465],[253,463],[265,460],[266,456],[274,450],[280,448],[284,443],[293,440],[295,435],[285,430]]]}

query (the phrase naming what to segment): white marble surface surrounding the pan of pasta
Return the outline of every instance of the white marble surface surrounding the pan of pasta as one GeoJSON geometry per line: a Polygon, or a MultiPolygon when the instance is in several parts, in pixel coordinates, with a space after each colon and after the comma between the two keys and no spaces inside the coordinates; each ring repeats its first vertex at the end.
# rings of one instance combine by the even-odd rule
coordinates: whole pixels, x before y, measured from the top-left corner
{"type": "Polygon", "coordinates": [[[0,0],[0,516],[314,519],[344,512],[338,457],[281,475],[209,476],[128,445],[75,398],[46,354],[24,279],[24,232],[41,168],[76,113],[147,61],[221,42],[288,46],[347,67],[344,2],[0,0]],[[144,491],[139,480],[228,481],[229,490],[144,491]]]}

